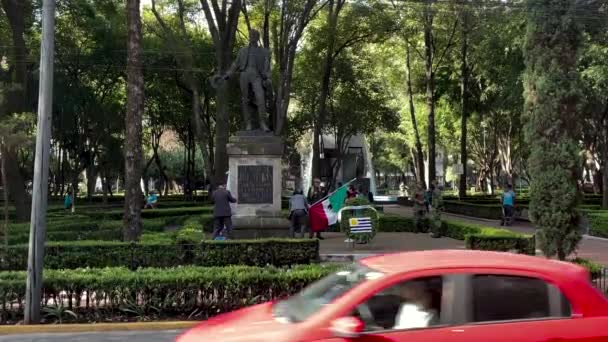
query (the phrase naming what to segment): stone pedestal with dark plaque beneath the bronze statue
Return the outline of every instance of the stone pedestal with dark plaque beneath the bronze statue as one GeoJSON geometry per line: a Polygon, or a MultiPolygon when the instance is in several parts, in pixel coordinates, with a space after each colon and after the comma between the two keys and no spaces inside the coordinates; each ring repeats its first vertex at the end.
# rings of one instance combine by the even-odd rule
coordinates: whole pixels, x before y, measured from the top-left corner
{"type": "Polygon", "coordinates": [[[283,140],[272,133],[238,132],[227,146],[230,191],[237,198],[234,238],[289,234],[281,215],[283,140]]]}

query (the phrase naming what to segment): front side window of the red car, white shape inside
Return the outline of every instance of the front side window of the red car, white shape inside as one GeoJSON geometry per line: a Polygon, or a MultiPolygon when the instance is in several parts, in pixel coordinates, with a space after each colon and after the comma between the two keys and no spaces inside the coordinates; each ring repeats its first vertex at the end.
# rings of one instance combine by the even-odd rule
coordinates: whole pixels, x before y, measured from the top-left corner
{"type": "Polygon", "coordinates": [[[367,332],[431,327],[441,322],[442,295],[441,277],[408,280],[376,293],[353,314],[367,332]]]}

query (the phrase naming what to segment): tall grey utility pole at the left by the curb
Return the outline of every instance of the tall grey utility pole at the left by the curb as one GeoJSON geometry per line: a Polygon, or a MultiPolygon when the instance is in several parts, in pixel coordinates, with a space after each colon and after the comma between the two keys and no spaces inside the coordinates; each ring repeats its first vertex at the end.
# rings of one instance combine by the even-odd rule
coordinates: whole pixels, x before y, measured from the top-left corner
{"type": "Polygon", "coordinates": [[[32,189],[32,215],[27,260],[25,324],[40,322],[42,266],[46,237],[46,210],[51,149],[53,109],[53,58],[55,50],[55,0],[42,2],[42,42],[40,43],[40,87],[38,89],[38,126],[32,189]]]}

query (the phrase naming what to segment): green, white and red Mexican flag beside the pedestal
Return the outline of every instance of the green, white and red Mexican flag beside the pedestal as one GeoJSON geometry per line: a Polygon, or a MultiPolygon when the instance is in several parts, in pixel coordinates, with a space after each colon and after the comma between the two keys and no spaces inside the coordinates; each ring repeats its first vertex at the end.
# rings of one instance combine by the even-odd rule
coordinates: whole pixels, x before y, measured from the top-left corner
{"type": "Polygon", "coordinates": [[[336,191],[329,194],[323,200],[310,206],[308,216],[310,219],[310,230],[320,232],[332,224],[338,223],[338,213],[344,207],[346,200],[346,192],[348,185],[351,182],[344,184],[336,191]]]}

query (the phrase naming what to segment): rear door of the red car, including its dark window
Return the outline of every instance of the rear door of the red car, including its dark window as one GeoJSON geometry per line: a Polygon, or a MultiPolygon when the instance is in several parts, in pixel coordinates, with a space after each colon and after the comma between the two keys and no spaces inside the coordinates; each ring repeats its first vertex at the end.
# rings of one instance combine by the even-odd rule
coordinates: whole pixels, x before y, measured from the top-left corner
{"type": "Polygon", "coordinates": [[[599,342],[604,318],[572,315],[568,299],[553,284],[534,277],[470,275],[470,292],[455,330],[470,342],[599,342]]]}

